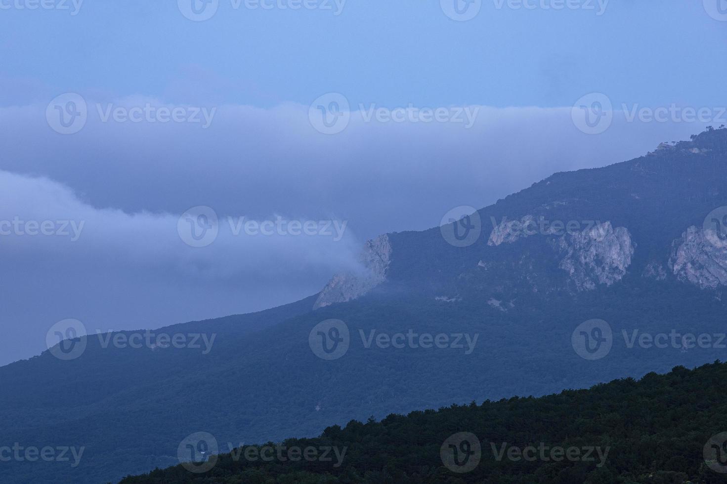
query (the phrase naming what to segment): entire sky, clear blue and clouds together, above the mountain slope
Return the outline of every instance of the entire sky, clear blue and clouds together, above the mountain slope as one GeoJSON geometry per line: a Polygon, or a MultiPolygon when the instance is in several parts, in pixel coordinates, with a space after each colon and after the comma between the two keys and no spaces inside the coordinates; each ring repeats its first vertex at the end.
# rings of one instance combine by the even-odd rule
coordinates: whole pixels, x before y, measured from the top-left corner
{"type": "Polygon", "coordinates": [[[719,1],[0,0],[0,364],[727,123],[719,1]]]}

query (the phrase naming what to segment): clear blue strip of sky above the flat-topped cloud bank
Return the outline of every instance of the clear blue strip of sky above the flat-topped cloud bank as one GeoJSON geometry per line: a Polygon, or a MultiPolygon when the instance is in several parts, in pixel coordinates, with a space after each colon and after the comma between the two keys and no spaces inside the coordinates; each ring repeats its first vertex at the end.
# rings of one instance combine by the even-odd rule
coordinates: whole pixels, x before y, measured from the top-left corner
{"type": "Polygon", "coordinates": [[[85,0],[75,16],[0,10],[9,84],[0,99],[73,91],[271,107],[334,91],[389,106],[555,107],[597,91],[616,102],[704,105],[717,101],[727,69],[716,57],[727,23],[701,0],[611,0],[602,15],[596,0],[562,10],[540,7],[553,0],[530,0],[536,9],[485,0],[467,22],[435,0],[348,0],[340,15],[333,0],[331,10],[232,1],[204,22],[169,0],[85,0]]]}

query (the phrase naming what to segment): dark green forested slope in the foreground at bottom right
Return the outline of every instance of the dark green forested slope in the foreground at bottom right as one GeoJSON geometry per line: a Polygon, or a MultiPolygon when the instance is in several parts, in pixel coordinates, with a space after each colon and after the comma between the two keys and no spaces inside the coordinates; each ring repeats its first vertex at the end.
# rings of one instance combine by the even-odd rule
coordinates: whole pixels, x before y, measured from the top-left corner
{"type": "Polygon", "coordinates": [[[727,483],[727,445],[710,440],[727,429],[726,381],[727,363],[717,361],[590,390],[393,414],[380,422],[351,421],[328,427],[317,438],[281,443],[284,448],[345,448],[339,467],[335,458],[292,462],[276,454],[266,462],[246,459],[255,451],[244,447],[236,449],[238,459],[221,455],[204,474],[179,465],[126,477],[121,484],[727,483]],[[452,472],[441,455],[443,443],[458,432],[470,432],[481,443],[480,460],[469,472],[452,472]],[[556,461],[558,455],[546,451],[534,460],[508,459],[508,453],[498,459],[504,443],[521,449],[600,448],[606,458],[593,453],[589,459],[582,452],[556,461]],[[705,446],[712,445],[715,459],[704,455],[705,446]]]}

